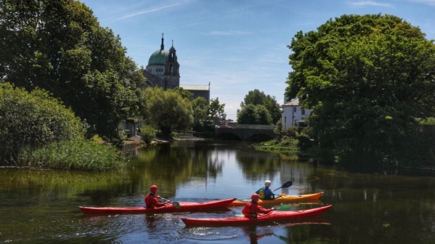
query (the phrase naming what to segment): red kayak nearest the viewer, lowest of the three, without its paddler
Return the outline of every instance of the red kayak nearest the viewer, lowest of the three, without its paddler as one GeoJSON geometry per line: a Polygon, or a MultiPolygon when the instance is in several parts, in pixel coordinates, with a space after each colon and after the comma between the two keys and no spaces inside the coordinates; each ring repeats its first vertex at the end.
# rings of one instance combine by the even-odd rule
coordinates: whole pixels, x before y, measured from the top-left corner
{"type": "Polygon", "coordinates": [[[275,221],[286,221],[292,219],[300,219],[304,217],[314,217],[325,213],[332,205],[325,207],[301,210],[301,211],[272,211],[270,213],[260,215],[257,218],[247,218],[247,217],[230,217],[230,218],[204,218],[204,219],[189,219],[182,218],[183,222],[188,225],[245,225],[245,224],[256,224],[256,223],[267,223],[275,221]]]}

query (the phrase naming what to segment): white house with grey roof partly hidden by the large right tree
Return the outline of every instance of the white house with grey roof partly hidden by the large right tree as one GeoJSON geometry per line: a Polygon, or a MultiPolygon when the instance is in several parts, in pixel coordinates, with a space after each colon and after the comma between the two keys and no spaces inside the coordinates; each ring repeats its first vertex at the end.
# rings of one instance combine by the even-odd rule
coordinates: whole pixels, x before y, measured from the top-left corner
{"type": "Polygon", "coordinates": [[[282,123],[284,129],[289,126],[299,126],[306,123],[306,117],[310,116],[309,109],[302,109],[299,99],[295,98],[282,106],[282,123]]]}

